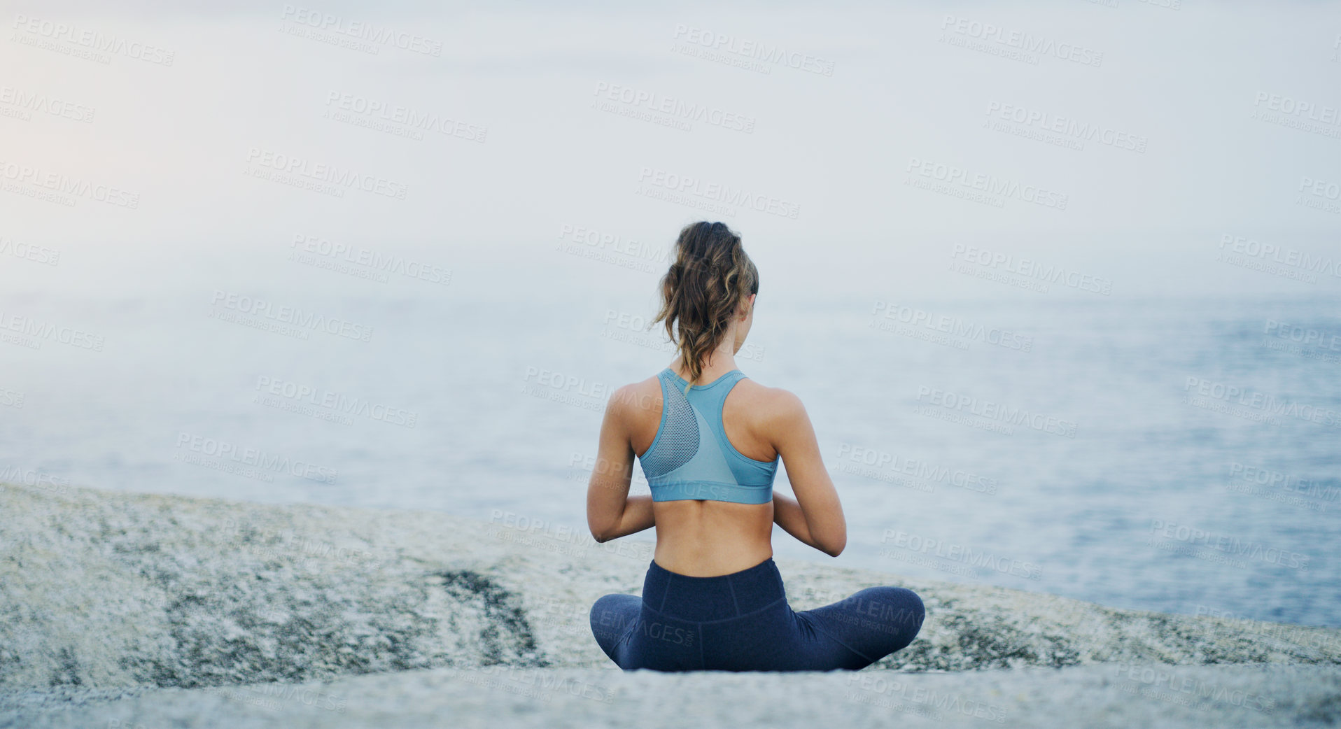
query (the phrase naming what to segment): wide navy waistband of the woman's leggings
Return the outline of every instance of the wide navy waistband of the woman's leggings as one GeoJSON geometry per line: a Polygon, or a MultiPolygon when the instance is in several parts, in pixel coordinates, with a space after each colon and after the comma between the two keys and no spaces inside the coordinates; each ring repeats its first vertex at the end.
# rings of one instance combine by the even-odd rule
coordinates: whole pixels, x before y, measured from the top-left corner
{"type": "Polygon", "coordinates": [[[754,612],[786,598],[772,557],[715,578],[691,578],[653,560],[642,580],[642,603],[683,620],[724,620],[754,612]]]}

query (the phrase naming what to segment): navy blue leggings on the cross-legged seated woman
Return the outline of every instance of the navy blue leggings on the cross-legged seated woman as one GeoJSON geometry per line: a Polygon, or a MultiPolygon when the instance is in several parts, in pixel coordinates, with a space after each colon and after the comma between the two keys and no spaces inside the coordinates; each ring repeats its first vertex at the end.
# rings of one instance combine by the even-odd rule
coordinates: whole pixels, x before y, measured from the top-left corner
{"type": "Polygon", "coordinates": [[[772,559],[716,578],[648,567],[642,596],[605,595],[591,633],[624,670],[857,670],[913,642],[925,611],[902,587],[868,587],[797,612],[772,559]]]}

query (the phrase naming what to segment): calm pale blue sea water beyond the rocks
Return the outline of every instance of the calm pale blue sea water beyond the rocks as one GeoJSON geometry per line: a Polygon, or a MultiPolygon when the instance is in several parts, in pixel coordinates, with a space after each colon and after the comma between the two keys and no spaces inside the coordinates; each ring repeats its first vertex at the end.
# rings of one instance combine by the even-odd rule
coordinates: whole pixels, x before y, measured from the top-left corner
{"type": "MultiPolygon", "coordinates": [[[[605,398],[670,360],[644,330],[653,277],[616,304],[552,280],[467,296],[461,269],[299,273],[0,299],[103,338],[0,342],[23,398],[0,405],[0,478],[585,529],[605,398]],[[284,306],[330,322],[286,331],[284,306]]],[[[760,304],[738,363],[801,395],[849,523],[838,560],[780,531],[779,556],[1341,626],[1334,300],[905,304],[760,304]]]]}

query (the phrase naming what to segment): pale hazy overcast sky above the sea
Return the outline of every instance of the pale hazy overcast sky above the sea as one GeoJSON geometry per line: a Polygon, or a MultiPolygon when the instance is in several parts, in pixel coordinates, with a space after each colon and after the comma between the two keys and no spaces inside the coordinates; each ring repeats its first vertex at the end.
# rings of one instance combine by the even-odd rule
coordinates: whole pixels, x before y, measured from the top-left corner
{"type": "Polygon", "coordinates": [[[1341,289],[1215,260],[1341,256],[1334,3],[101,5],[3,19],[0,239],[66,256],[0,261],[11,291],[298,235],[543,271],[563,232],[664,247],[697,218],[827,288],[964,285],[964,245],[1125,293],[1341,289]],[[257,177],[283,166],[355,184],[257,177]],[[34,197],[52,180],[89,186],[34,197]]]}

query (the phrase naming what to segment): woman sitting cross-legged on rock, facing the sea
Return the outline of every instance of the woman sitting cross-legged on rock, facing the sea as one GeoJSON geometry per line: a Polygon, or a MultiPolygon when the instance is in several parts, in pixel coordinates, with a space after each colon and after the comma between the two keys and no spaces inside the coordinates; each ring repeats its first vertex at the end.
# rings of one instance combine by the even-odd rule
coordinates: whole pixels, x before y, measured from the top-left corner
{"type": "Polygon", "coordinates": [[[591,536],[657,529],[642,596],[591,607],[591,633],[621,669],[856,670],[921,627],[921,599],[901,587],[802,612],[787,604],[772,524],[830,556],[848,527],[801,401],[736,369],[758,292],[740,236],[721,222],[688,225],[653,320],[665,322],[679,356],[606,406],[587,488],[591,536]],[[629,496],[634,453],[650,496],[629,496]],[[795,499],[772,493],[779,458],[795,499]]]}

